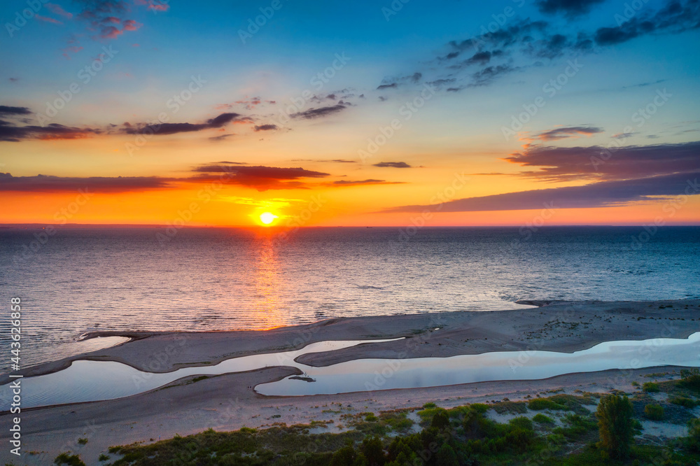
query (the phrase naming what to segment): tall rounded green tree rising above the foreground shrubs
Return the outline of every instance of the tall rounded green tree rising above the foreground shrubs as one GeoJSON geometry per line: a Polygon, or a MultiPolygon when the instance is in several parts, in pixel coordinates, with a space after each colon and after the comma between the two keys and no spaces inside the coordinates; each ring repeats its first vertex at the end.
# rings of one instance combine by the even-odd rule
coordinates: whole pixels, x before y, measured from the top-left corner
{"type": "Polygon", "coordinates": [[[626,396],[605,395],[598,403],[598,432],[601,441],[598,446],[610,458],[627,458],[634,437],[632,403],[626,396]]]}

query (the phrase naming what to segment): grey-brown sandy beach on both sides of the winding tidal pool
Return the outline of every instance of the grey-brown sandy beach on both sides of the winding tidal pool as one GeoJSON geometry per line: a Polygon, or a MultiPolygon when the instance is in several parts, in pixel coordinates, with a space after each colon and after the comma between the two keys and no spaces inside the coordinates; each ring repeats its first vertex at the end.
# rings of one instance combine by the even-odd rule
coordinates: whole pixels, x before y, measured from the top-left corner
{"type": "MultiPolygon", "coordinates": [[[[700,331],[700,300],[660,302],[523,302],[533,305],[517,311],[425,313],[405,316],[338,318],[310,325],[267,331],[158,333],[100,332],[92,337],[121,335],[132,341],[73,358],[36,365],[25,376],[55,372],[72,360],[114,360],[148,372],[212,365],[228,358],[297,349],[324,340],[390,339],[398,341],[360,345],[328,353],[302,356],[306,365],[324,366],[359,358],[421,358],[478,354],[491,351],[547,350],[573,352],[603,341],[658,337],[687,338],[700,331]],[[439,330],[438,330],[439,329],[439,330]]],[[[154,442],[214,428],[235,430],[273,423],[333,421],[328,431],[342,430],[341,415],[353,411],[384,411],[420,407],[426,402],[454,407],[469,402],[508,398],[524,400],[538,393],[575,390],[608,393],[633,392],[632,382],[668,380],[678,367],[612,370],[568,374],[537,381],[493,381],[435,388],[378,390],[374,392],[306,397],[265,397],[255,393],[258,383],[298,373],[290,367],[268,367],[239,374],[193,377],[132,397],[22,410],[22,463],[7,450],[2,460],[15,464],[47,464],[62,451],[79,452],[87,464],[109,446],[154,442]],[[190,382],[190,383],[188,383],[190,382]],[[84,445],[77,444],[87,438],[84,445]],[[48,461],[47,461],[48,459],[48,461]]],[[[1,383],[7,383],[3,376],[1,383]]],[[[0,414],[5,418],[7,412],[0,414]]],[[[673,427],[656,426],[660,436],[685,435],[673,427]],[[675,432],[675,434],[674,434],[675,432]]],[[[676,426],[678,427],[678,426],[676,426]]],[[[3,442],[8,432],[0,435],[3,442]]]]}

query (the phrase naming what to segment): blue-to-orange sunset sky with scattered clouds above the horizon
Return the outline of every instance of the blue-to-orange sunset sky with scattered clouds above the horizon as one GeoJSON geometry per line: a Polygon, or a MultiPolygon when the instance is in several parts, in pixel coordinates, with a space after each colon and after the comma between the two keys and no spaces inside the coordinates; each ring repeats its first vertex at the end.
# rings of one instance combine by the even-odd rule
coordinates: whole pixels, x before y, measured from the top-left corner
{"type": "Polygon", "coordinates": [[[700,224],[700,1],[0,5],[0,223],[700,224]]]}

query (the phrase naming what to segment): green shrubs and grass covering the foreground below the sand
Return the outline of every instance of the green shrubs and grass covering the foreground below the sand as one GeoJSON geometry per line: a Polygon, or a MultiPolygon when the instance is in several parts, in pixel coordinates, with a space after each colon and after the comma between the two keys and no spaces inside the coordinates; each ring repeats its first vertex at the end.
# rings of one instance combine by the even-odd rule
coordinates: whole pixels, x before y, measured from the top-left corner
{"type": "Polygon", "coordinates": [[[593,414],[584,405],[591,404],[594,396],[538,398],[535,407],[561,413],[557,414],[561,425],[542,413],[535,414],[533,420],[519,416],[507,423],[497,423],[488,416],[491,409],[502,406],[507,412],[520,411],[523,402],[507,404],[510,402],[505,400],[451,409],[430,403],[417,413],[422,426],[419,432],[411,430],[414,424],[408,418],[409,409],[344,411],[342,423],[350,430],[337,434],[311,434],[314,425],[330,423],[315,421],[235,432],[210,429],[148,445],[111,447],[109,451],[122,456],[113,466],[675,466],[700,461],[700,421],[689,423],[691,435],[685,439],[667,445],[636,445],[633,434],[638,421],[632,417],[627,397],[605,395],[593,414]]]}

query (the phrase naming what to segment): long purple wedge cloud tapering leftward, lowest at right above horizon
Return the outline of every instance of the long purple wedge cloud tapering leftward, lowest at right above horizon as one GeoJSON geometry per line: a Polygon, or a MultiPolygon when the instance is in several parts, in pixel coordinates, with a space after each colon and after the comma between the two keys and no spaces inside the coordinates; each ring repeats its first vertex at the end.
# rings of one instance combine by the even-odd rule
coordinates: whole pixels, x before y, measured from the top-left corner
{"type": "MultiPolygon", "coordinates": [[[[697,195],[700,171],[690,174],[672,174],[621,181],[601,181],[583,186],[567,186],[509,192],[500,195],[468,197],[441,204],[441,212],[520,211],[542,209],[591,209],[595,207],[624,206],[633,202],[660,201],[679,195],[697,195]]],[[[390,212],[420,212],[435,206],[399,206],[390,212]]]]}

